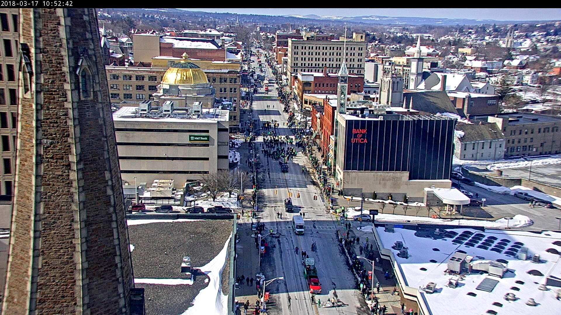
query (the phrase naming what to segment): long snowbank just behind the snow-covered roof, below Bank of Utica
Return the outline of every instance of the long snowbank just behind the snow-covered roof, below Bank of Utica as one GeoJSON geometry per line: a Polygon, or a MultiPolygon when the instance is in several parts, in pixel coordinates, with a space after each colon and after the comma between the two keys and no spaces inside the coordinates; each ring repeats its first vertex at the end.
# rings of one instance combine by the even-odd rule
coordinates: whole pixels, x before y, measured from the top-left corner
{"type": "MultiPolygon", "coordinates": [[[[360,212],[359,212],[360,213],[360,212]]],[[[525,215],[515,215],[511,220],[504,217],[496,221],[471,220],[471,219],[433,219],[425,216],[409,216],[394,214],[379,214],[375,218],[376,223],[424,223],[424,224],[441,224],[441,225],[463,225],[463,226],[481,226],[484,228],[523,228],[534,224],[529,217],[525,215]]],[[[372,226],[364,226],[357,228],[359,231],[372,231],[372,226]]]]}

